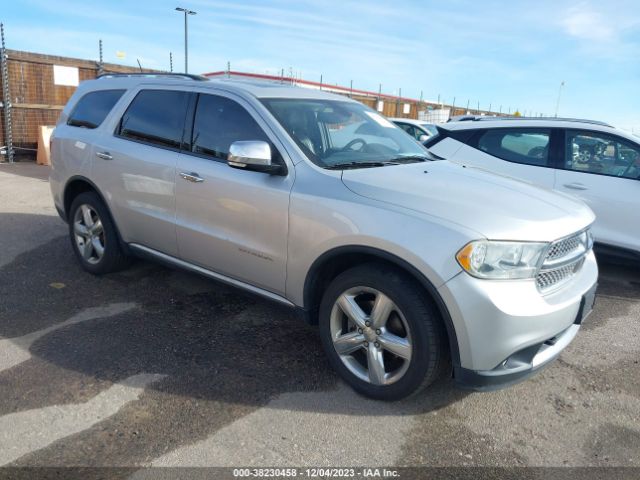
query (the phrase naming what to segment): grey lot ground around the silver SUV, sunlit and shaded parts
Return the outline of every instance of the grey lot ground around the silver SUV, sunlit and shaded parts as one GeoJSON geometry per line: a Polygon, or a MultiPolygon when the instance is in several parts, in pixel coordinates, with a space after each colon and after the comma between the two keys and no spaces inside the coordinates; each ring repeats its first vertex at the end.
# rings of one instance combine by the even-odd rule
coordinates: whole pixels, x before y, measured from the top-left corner
{"type": "Polygon", "coordinates": [[[285,308],[152,263],[84,273],[47,175],[0,166],[0,465],[640,467],[637,266],[601,263],[529,381],[380,403],[285,308]]]}

